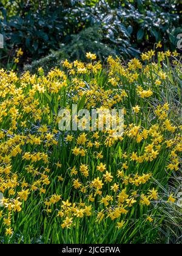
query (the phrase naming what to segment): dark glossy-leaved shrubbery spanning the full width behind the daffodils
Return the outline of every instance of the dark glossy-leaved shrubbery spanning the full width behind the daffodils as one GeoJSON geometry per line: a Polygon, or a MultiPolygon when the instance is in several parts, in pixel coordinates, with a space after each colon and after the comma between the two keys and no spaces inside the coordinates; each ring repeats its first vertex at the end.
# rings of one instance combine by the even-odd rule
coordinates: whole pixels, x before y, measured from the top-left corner
{"type": "Polygon", "coordinates": [[[181,4],[181,0],[2,0],[0,33],[5,49],[0,56],[7,57],[21,47],[30,62],[58,50],[62,43],[69,45],[69,51],[70,42],[76,41],[78,52],[73,49],[72,56],[81,57],[84,42],[79,42],[79,33],[93,26],[100,29],[101,43],[124,57],[136,56],[157,41],[175,49],[181,4]]]}

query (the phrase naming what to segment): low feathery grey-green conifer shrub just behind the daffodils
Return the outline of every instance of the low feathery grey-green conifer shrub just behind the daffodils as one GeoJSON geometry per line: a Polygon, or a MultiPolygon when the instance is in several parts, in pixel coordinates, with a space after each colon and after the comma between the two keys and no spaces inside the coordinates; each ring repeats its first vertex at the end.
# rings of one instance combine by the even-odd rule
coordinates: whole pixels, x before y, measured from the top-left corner
{"type": "Polygon", "coordinates": [[[26,65],[25,70],[35,73],[39,66],[44,68],[45,73],[55,66],[60,66],[61,60],[69,59],[86,61],[86,52],[96,53],[98,58],[103,61],[109,55],[115,56],[115,51],[107,45],[101,43],[102,34],[98,27],[89,27],[79,32],[78,35],[72,35],[70,43],[61,45],[58,51],[35,60],[31,65],[26,65]]]}

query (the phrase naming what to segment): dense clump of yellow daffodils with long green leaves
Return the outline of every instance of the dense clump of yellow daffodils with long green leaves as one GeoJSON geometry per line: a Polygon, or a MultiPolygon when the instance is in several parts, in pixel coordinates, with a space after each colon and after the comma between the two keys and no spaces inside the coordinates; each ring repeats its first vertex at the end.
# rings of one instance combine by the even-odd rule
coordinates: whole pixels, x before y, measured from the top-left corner
{"type": "Polygon", "coordinates": [[[87,226],[95,237],[110,229],[110,241],[126,232],[125,242],[161,222],[158,204],[175,204],[175,196],[163,196],[158,182],[166,187],[181,171],[182,127],[173,115],[177,101],[166,97],[173,73],[161,65],[177,52],[157,52],[158,62],[155,55],[143,52],[127,65],[109,56],[103,66],[88,52],[87,63],[64,60],[48,74],[0,70],[0,229],[7,239],[39,229],[46,241],[72,243],[87,226]],[[72,104],[97,114],[123,108],[123,134],[106,129],[109,115],[96,119],[95,130],[78,115],[79,130],[59,130],[59,110],[72,104]]]}

